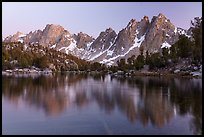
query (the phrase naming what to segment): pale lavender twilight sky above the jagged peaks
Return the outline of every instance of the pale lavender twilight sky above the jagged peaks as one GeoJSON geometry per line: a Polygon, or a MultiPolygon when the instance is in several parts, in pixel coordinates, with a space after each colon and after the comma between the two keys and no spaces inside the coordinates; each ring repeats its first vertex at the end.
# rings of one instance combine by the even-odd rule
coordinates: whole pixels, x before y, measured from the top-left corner
{"type": "Polygon", "coordinates": [[[2,36],[58,24],[96,38],[109,27],[118,33],[131,19],[148,16],[151,21],[159,13],[188,29],[194,17],[202,17],[202,2],[2,2],[2,36]]]}

